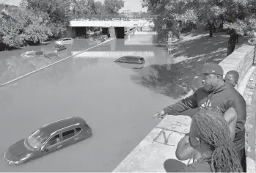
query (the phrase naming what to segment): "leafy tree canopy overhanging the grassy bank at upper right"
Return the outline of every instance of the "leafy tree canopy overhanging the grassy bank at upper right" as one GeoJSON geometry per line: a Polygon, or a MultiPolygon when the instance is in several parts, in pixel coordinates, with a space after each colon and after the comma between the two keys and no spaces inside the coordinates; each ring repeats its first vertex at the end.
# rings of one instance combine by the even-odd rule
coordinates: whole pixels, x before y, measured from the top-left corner
{"type": "Polygon", "coordinates": [[[168,22],[172,26],[169,29],[178,29],[180,34],[194,29],[193,24],[202,23],[210,37],[216,29],[227,32],[227,55],[234,51],[239,35],[251,36],[256,29],[255,0],[142,0],[142,6],[166,20],[155,21],[158,29],[168,22]]]}

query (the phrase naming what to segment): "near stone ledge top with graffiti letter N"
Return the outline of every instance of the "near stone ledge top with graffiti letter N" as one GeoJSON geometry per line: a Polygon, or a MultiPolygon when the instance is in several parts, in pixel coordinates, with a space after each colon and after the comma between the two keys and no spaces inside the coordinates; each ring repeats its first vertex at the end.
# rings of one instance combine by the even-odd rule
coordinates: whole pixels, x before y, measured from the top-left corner
{"type": "MultiPolygon", "coordinates": [[[[113,172],[166,172],[164,162],[170,158],[177,160],[177,141],[189,132],[190,124],[188,116],[165,117],[113,172]]],[[[186,164],[189,160],[182,162],[186,164]]]]}

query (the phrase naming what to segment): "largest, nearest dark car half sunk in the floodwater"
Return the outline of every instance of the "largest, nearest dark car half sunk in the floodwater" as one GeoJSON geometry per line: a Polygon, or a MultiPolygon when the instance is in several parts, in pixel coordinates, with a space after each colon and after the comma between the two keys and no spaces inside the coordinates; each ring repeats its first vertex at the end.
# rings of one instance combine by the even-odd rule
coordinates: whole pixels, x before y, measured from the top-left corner
{"type": "Polygon", "coordinates": [[[92,136],[92,129],[81,117],[51,122],[21,139],[4,153],[4,161],[19,165],[92,136]]]}

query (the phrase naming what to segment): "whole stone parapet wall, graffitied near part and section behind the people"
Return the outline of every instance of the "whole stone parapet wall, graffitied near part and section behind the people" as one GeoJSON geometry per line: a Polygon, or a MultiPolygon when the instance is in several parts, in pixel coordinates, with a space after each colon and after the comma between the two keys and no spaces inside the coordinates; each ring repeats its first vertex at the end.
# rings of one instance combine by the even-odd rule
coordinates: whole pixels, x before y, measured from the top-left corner
{"type": "MultiPolygon", "coordinates": [[[[243,78],[252,67],[254,56],[254,47],[245,45],[227,56],[219,65],[224,68],[224,74],[229,70],[238,70],[240,73],[238,87],[241,87],[247,83],[243,78]]],[[[193,91],[186,96],[192,93],[193,91]]],[[[188,116],[169,115],[165,117],[113,172],[166,172],[165,163],[168,161],[171,161],[172,166],[178,169],[180,165],[173,162],[177,160],[175,150],[178,141],[183,138],[184,133],[188,132],[190,123],[191,118],[188,116]]],[[[182,162],[190,163],[189,160],[182,162]]]]}

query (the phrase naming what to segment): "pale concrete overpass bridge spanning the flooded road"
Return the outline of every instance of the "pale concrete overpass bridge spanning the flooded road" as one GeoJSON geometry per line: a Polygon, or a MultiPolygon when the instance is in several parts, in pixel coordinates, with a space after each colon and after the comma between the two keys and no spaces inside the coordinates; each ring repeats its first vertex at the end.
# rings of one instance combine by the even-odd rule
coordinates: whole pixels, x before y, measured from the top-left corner
{"type": "Polygon", "coordinates": [[[142,31],[143,26],[147,26],[147,21],[70,21],[67,27],[67,35],[76,37],[77,32],[87,33],[88,27],[102,27],[104,34],[110,34],[111,38],[124,38],[125,31],[139,27],[142,31]]]}

